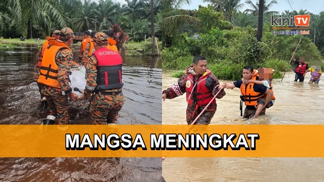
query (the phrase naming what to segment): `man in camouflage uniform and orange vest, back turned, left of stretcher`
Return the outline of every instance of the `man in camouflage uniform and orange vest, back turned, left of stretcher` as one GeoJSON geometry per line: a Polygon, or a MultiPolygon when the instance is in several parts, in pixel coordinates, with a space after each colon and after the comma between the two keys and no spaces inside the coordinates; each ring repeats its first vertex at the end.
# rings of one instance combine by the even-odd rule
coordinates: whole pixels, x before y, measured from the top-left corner
{"type": "Polygon", "coordinates": [[[73,38],[73,31],[67,27],[63,28],[59,40],[49,40],[49,45],[44,50],[41,73],[37,82],[42,83],[41,93],[45,95],[50,111],[43,124],[54,124],[56,117],[58,124],[67,124],[67,96],[71,101],[78,98],[68,83],[70,67],[73,63],[73,54],[69,46],[73,38]]]}

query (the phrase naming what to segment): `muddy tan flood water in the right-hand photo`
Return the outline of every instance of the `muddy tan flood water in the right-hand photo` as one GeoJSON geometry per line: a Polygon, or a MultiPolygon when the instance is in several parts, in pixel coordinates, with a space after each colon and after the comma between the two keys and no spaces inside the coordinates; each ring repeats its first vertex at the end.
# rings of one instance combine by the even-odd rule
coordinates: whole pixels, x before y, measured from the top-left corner
{"type": "MultiPolygon", "coordinates": [[[[217,76],[217,74],[216,74],[217,76]]],[[[281,82],[273,80],[274,105],[251,124],[323,124],[324,82],[294,82],[295,73],[287,72],[281,82]]],[[[177,82],[163,75],[163,89],[177,82]]],[[[220,80],[221,83],[224,80],[220,80]]],[[[230,82],[230,81],[226,81],[230,82]]],[[[238,88],[226,89],[217,100],[211,124],[247,124],[239,111],[238,88]]],[[[162,104],[163,124],[186,124],[185,95],[162,104]]],[[[166,181],[324,181],[324,158],[166,158],[166,181]]]]}

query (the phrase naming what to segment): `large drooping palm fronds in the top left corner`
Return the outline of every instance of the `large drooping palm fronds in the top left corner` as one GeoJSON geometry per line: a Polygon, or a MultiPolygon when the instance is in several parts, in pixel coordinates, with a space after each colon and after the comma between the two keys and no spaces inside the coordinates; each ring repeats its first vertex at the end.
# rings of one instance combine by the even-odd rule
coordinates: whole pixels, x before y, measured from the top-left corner
{"type": "Polygon", "coordinates": [[[43,27],[43,33],[48,35],[53,24],[63,28],[71,22],[64,8],[75,11],[80,8],[79,0],[5,0],[5,3],[12,10],[11,25],[22,35],[27,35],[28,23],[30,27],[32,24],[43,27]]]}

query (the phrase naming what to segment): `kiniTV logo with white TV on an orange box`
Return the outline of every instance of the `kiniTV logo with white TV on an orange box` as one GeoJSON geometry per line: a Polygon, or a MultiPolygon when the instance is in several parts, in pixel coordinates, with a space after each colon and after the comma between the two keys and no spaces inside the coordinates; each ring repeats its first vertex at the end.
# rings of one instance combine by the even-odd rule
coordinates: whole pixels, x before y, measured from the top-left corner
{"type": "Polygon", "coordinates": [[[279,15],[277,18],[274,18],[274,15],[271,15],[271,26],[285,26],[286,23],[288,26],[309,26],[310,15],[290,15],[290,18],[282,18],[279,15]],[[294,21],[295,20],[295,21],[294,21]]]}

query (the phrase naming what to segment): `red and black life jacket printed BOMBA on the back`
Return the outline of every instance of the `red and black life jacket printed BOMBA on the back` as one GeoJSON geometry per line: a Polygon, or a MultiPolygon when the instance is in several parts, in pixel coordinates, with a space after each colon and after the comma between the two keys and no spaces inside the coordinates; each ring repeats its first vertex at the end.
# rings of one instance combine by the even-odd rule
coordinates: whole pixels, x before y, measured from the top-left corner
{"type": "Polygon", "coordinates": [[[96,90],[100,91],[123,87],[124,83],[121,82],[121,65],[123,65],[123,59],[121,59],[120,55],[103,47],[96,50],[94,56],[97,59],[96,90]]]}

